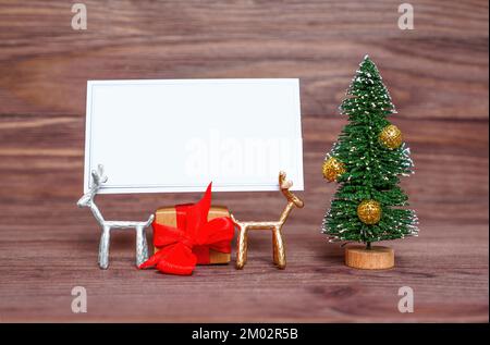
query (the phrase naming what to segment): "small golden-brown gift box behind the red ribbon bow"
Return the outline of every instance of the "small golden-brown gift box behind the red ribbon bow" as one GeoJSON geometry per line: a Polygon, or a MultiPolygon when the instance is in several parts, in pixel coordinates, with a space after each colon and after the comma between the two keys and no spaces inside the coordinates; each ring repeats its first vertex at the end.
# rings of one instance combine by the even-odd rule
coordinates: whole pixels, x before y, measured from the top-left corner
{"type": "MultiPolygon", "coordinates": [[[[186,209],[191,205],[179,205],[172,207],[161,207],[155,212],[155,222],[167,226],[185,229],[187,221],[186,209]]],[[[224,206],[211,206],[208,212],[207,221],[217,218],[230,217],[230,211],[224,206]]],[[[159,249],[154,247],[155,252],[159,249]]],[[[229,263],[231,261],[231,241],[230,248],[212,249],[209,246],[194,246],[193,252],[197,257],[197,264],[219,264],[229,263]],[[228,252],[225,252],[225,251],[228,252]]]]}

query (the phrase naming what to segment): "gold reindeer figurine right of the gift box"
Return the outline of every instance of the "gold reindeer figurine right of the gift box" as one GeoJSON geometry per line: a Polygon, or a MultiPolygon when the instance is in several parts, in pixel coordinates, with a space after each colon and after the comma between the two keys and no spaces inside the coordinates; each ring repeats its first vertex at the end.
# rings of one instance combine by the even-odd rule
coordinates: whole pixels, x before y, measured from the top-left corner
{"type": "Polygon", "coordinates": [[[303,208],[304,202],[290,192],[293,183],[285,180],[286,174],[284,172],[279,173],[279,187],[282,194],[287,200],[287,205],[281,213],[279,221],[277,222],[240,222],[233,214],[231,219],[233,223],[238,227],[238,239],[237,239],[237,252],[236,252],[236,269],[241,270],[247,262],[247,235],[248,230],[271,230],[272,231],[272,250],[273,260],[279,269],[285,269],[285,250],[284,241],[282,239],[282,225],[284,225],[287,217],[294,207],[303,208]]]}

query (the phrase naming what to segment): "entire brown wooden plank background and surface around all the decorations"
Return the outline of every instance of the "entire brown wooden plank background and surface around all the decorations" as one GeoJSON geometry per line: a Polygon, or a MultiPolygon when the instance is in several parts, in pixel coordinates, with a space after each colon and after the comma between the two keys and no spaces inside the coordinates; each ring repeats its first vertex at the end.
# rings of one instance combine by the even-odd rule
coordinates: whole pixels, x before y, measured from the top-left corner
{"type": "MultiPolygon", "coordinates": [[[[0,321],[488,321],[488,1],[0,0],[0,321]],[[320,223],[335,185],[323,155],[364,54],[378,64],[417,173],[403,186],[420,236],[390,243],[396,268],[347,269],[320,223]],[[169,276],[133,267],[134,238],[114,233],[97,268],[99,230],[82,194],[87,79],[299,77],[306,208],[286,224],[289,266],[270,263],[268,234],[249,262],[169,276]],[[88,312],[71,311],[71,289],[88,312]],[[415,312],[397,311],[397,291],[415,312]]],[[[148,167],[147,169],[151,169],[148,167]]],[[[107,218],[140,219],[197,194],[101,198],[107,218]]],[[[242,219],[277,218],[278,193],[216,194],[242,219]]]]}

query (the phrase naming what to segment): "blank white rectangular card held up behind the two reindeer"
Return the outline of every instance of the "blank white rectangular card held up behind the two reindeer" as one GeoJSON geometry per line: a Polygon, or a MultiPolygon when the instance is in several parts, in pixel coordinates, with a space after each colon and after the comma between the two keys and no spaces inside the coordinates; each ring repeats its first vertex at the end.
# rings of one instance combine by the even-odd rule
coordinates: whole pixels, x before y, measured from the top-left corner
{"type": "Polygon", "coordinates": [[[298,79],[89,81],[84,190],[303,190],[298,79]]]}

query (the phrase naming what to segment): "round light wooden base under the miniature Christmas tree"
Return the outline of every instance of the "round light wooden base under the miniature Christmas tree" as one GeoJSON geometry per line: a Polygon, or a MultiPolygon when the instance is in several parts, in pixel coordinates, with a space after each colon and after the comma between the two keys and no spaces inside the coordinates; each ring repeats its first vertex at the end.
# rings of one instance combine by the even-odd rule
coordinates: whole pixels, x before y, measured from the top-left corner
{"type": "Polygon", "coordinates": [[[385,270],[394,267],[394,250],[389,247],[348,246],[345,248],[345,264],[362,270],[385,270]]]}

